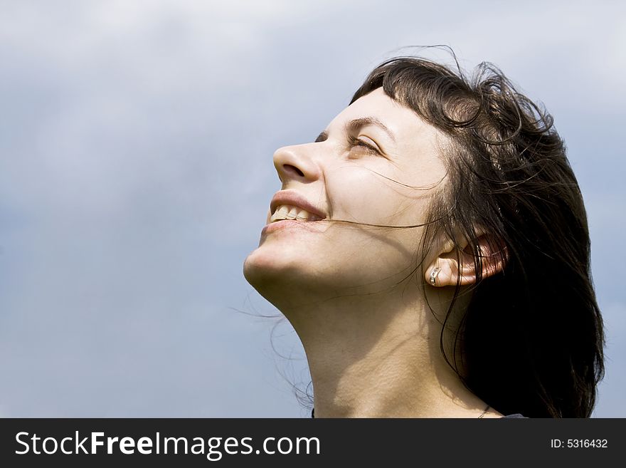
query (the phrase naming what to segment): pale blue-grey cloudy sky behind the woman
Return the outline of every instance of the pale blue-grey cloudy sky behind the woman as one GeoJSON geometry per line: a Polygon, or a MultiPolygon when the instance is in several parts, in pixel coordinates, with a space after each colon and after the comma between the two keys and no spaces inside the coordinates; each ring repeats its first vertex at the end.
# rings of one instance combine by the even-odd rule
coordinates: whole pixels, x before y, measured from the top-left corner
{"type": "Polygon", "coordinates": [[[553,115],[606,326],[593,416],[626,417],[625,5],[0,0],[0,417],[306,417],[302,347],[242,274],[272,154],[435,44],[553,115]]]}

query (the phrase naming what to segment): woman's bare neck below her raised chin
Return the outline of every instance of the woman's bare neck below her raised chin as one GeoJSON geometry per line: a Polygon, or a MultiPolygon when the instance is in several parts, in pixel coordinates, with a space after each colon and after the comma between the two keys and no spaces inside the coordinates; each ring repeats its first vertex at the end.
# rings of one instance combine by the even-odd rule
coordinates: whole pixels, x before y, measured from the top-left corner
{"type": "Polygon", "coordinates": [[[280,308],[307,353],[316,417],[478,417],[484,410],[445,363],[440,323],[417,292],[311,304],[280,308]]]}

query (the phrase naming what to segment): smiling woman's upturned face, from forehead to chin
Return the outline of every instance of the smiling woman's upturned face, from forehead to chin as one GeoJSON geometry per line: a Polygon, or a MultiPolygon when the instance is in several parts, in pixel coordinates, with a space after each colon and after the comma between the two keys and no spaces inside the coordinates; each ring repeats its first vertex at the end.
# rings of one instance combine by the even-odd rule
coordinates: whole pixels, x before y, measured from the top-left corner
{"type": "Polygon", "coordinates": [[[437,137],[378,88],[337,115],[316,142],[277,150],[282,189],[245,261],[246,279],[280,302],[275,296],[302,291],[381,290],[408,276],[423,228],[366,224],[425,222],[445,178],[437,137]]]}

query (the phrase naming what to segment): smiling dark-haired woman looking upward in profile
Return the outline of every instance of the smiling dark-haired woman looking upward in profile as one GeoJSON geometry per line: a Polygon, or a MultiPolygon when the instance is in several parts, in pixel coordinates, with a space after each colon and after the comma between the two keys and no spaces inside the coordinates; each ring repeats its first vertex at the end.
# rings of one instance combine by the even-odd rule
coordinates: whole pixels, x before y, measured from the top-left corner
{"type": "Polygon", "coordinates": [[[244,274],[292,323],[316,417],[588,417],[603,323],[552,118],[496,68],[378,66],[282,189],[244,274]]]}

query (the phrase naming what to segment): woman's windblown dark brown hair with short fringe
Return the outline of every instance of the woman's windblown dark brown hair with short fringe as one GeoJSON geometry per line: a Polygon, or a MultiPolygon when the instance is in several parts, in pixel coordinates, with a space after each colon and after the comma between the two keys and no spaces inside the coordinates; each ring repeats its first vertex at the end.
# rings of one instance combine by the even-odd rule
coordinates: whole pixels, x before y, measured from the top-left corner
{"type": "MultiPolygon", "coordinates": [[[[477,282],[453,343],[444,331],[455,301],[447,310],[445,360],[503,414],[589,417],[604,374],[603,321],[583,198],[551,115],[489,63],[467,78],[421,58],[393,58],[351,103],[377,88],[449,140],[448,181],[430,208],[423,247],[436,236],[487,233],[504,262],[483,278],[484,257],[470,244],[477,282]]],[[[461,291],[457,282],[455,299],[461,291]]]]}

